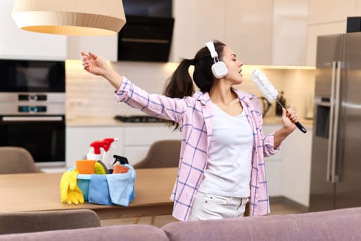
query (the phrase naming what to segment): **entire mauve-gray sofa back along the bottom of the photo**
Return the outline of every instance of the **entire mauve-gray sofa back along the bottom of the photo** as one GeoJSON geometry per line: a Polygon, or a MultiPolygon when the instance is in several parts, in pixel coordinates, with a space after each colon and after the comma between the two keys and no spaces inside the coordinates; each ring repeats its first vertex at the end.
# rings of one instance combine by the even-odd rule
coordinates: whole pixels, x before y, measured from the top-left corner
{"type": "Polygon", "coordinates": [[[132,224],[0,235],[3,240],[361,240],[361,207],[239,220],[132,224]]]}

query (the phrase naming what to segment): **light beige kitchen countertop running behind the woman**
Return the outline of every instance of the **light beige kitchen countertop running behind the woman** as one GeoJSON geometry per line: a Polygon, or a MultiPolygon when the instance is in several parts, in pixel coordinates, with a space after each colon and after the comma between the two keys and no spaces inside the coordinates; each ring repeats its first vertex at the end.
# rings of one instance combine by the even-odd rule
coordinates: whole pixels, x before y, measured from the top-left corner
{"type": "MultiPolygon", "coordinates": [[[[307,129],[313,127],[313,120],[301,119],[302,123],[307,129]]],[[[76,118],[67,118],[66,120],[67,127],[131,127],[131,126],[164,126],[164,123],[122,123],[112,117],[76,117],[76,118]]],[[[264,125],[281,125],[281,118],[276,116],[270,116],[263,118],[264,125]]]]}

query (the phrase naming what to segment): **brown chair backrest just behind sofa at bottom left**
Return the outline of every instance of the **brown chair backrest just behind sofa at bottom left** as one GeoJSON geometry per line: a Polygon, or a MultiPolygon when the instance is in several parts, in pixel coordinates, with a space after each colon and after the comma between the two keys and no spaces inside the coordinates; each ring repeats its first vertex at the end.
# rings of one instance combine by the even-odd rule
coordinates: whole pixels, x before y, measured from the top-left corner
{"type": "Polygon", "coordinates": [[[0,234],[100,226],[98,214],[89,209],[0,213],[0,234]]]}

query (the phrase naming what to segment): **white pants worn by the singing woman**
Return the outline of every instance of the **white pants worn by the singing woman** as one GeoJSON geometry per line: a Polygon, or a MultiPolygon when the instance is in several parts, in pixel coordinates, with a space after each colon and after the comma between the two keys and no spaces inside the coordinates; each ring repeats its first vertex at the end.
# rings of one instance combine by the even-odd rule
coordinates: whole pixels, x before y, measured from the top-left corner
{"type": "Polygon", "coordinates": [[[232,198],[198,192],[190,211],[189,220],[241,218],[248,198],[232,198]]]}

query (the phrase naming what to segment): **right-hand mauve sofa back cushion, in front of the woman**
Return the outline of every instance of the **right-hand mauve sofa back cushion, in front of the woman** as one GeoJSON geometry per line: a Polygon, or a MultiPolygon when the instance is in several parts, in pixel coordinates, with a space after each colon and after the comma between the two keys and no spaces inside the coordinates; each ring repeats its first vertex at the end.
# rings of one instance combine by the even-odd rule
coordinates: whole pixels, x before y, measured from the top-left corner
{"type": "Polygon", "coordinates": [[[314,213],[173,222],[169,240],[361,240],[361,208],[314,213]]]}

